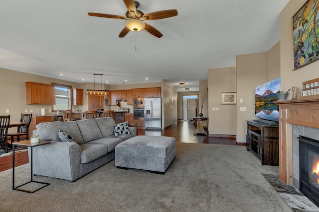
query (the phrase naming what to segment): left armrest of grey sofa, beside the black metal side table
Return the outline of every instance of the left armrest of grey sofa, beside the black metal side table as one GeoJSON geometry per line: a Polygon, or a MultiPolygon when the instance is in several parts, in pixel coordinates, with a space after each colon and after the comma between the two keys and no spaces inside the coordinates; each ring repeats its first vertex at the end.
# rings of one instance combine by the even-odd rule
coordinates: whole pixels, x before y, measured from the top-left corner
{"type": "Polygon", "coordinates": [[[33,174],[74,181],[81,177],[80,155],[81,147],[74,142],[51,141],[35,146],[33,174]]]}

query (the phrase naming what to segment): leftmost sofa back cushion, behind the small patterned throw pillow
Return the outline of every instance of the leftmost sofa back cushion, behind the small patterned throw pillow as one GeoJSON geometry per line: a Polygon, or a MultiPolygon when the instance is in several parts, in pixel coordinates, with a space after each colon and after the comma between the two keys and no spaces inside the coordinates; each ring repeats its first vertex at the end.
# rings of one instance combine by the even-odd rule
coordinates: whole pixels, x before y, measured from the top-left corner
{"type": "Polygon", "coordinates": [[[36,125],[36,135],[40,136],[41,141],[61,141],[59,137],[60,130],[72,135],[76,143],[83,143],[83,138],[76,122],[42,122],[36,125]]]}

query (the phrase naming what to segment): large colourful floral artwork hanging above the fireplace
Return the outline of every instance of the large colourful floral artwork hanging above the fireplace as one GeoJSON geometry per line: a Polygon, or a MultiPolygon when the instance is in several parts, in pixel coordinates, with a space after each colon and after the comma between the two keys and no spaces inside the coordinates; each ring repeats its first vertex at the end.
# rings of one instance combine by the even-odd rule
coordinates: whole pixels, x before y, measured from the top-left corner
{"type": "Polygon", "coordinates": [[[319,0],[308,0],[293,16],[293,70],[319,59],[319,0]]]}

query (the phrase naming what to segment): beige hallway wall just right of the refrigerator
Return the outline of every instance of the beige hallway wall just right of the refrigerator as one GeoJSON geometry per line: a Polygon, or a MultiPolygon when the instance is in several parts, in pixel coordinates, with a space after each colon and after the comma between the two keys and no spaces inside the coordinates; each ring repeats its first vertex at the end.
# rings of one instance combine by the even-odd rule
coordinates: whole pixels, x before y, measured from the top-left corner
{"type": "Polygon", "coordinates": [[[177,90],[166,80],[161,80],[161,127],[165,128],[177,122],[177,102],[171,107],[169,99],[177,101],[177,90]]]}

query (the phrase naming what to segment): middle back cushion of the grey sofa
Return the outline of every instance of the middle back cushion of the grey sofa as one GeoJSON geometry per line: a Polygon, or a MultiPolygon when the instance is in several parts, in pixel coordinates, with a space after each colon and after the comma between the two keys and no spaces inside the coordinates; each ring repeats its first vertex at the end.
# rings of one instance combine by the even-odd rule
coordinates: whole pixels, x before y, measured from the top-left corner
{"type": "Polygon", "coordinates": [[[83,142],[94,141],[102,138],[101,131],[94,119],[76,121],[82,134],[83,142]]]}

